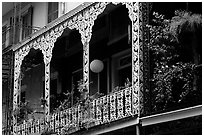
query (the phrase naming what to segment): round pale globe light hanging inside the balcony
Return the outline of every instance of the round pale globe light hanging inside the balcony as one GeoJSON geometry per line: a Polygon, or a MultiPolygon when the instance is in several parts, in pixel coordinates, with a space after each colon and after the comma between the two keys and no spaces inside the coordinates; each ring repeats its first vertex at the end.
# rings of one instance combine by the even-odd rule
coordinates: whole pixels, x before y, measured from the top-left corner
{"type": "Polygon", "coordinates": [[[90,69],[94,73],[100,73],[104,68],[103,62],[101,60],[95,59],[90,64],[90,69]]]}

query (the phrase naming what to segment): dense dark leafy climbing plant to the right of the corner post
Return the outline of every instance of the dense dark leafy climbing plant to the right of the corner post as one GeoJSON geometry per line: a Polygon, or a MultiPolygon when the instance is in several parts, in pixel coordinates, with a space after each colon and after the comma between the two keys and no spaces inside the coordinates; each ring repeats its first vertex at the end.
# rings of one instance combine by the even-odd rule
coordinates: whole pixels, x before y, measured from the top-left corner
{"type": "Polygon", "coordinates": [[[201,71],[193,62],[182,62],[182,43],[178,40],[180,36],[178,32],[181,29],[179,23],[183,23],[184,18],[188,20],[190,18],[190,22],[192,18],[199,21],[198,16],[190,16],[187,12],[177,12],[180,18],[174,17],[172,20],[167,20],[164,15],[155,12],[153,15],[155,18],[152,20],[152,25],[148,25],[153,111],[166,110],[179,104],[189,105],[193,103],[192,99],[189,100],[189,96],[193,94],[196,99],[195,96],[199,98],[201,94],[199,89],[194,90],[194,86],[198,85],[193,84],[195,77],[199,80],[198,76],[201,71]]]}

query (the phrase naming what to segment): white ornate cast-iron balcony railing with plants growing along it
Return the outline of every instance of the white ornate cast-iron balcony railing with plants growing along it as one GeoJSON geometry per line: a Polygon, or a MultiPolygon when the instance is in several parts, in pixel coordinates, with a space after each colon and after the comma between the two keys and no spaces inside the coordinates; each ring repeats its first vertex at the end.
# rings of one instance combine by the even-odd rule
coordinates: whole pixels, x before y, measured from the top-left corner
{"type": "Polygon", "coordinates": [[[112,92],[94,99],[87,105],[76,105],[54,113],[46,125],[45,119],[24,121],[17,126],[17,134],[72,134],[76,131],[111,123],[134,116],[133,87],[112,92]]]}

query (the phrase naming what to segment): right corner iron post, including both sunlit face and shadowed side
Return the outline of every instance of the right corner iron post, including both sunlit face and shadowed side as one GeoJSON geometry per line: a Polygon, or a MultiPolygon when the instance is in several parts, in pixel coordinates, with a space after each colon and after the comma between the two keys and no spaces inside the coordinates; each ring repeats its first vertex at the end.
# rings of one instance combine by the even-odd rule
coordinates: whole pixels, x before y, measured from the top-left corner
{"type": "Polygon", "coordinates": [[[148,24],[149,4],[144,2],[127,2],[125,4],[132,22],[132,115],[138,115],[140,117],[144,111],[143,92],[144,86],[146,86],[144,85],[144,80],[146,80],[144,79],[144,75],[145,77],[148,76],[147,73],[144,73],[144,69],[145,72],[148,71],[144,65],[148,62],[146,59],[148,56],[146,51],[148,29],[146,25],[148,24]]]}

